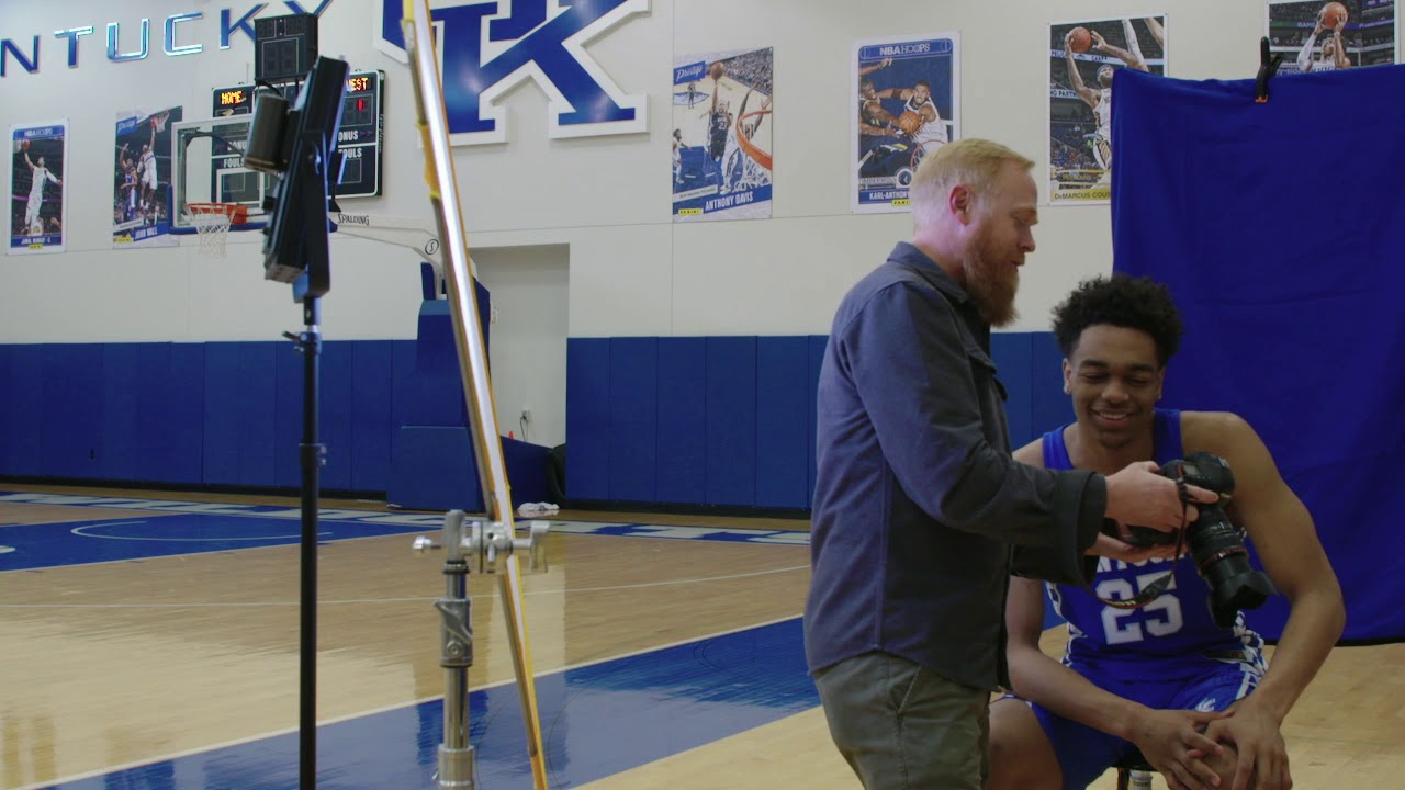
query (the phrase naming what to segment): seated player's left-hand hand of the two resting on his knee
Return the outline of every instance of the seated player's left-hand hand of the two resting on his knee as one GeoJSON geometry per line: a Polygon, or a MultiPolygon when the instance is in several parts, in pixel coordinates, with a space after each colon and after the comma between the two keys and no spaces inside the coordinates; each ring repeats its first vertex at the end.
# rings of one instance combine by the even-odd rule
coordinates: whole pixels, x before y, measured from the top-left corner
{"type": "Polygon", "coordinates": [[[1161,772],[1170,790],[1221,789],[1224,780],[1201,758],[1222,755],[1224,746],[1200,731],[1232,715],[1234,711],[1149,710],[1127,739],[1161,772]]]}

